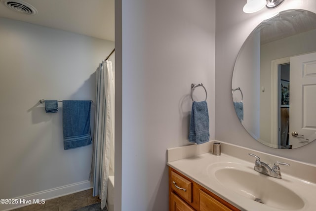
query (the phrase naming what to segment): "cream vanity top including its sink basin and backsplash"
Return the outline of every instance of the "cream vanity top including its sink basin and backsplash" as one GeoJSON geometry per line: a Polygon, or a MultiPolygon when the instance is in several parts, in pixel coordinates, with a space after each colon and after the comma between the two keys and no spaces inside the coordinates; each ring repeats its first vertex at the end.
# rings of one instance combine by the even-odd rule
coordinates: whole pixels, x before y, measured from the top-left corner
{"type": "MultiPolygon", "coordinates": [[[[196,146],[181,147],[181,151],[178,151],[178,148],[172,149],[179,157],[170,156],[173,160],[168,161],[168,166],[196,181],[237,209],[316,211],[316,165],[259,153],[227,143],[222,143],[221,156],[212,153],[197,154],[200,148],[196,146]],[[192,149],[188,151],[189,154],[188,149],[192,149]],[[280,166],[282,179],[273,178],[255,171],[254,159],[249,159],[248,153],[258,153],[265,162],[280,161],[291,166],[280,166]],[[186,158],[183,158],[183,154],[187,155],[186,158]],[[261,199],[264,204],[254,201],[256,198],[261,199]]],[[[211,144],[201,147],[211,147],[211,144]]]]}

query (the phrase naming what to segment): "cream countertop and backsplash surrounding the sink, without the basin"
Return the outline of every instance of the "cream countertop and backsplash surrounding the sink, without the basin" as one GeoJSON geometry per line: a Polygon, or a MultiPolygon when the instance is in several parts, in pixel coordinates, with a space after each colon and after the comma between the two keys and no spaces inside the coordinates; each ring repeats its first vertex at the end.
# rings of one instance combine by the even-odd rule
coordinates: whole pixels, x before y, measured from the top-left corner
{"type": "MultiPolygon", "coordinates": [[[[223,145],[223,142],[221,142],[223,145]]],[[[209,148],[211,146],[212,142],[210,142],[207,145],[204,145],[203,148],[209,148]],[[206,147],[205,147],[206,146],[206,147]]],[[[225,145],[225,143],[224,143],[225,145]]],[[[228,144],[230,145],[230,144],[228,144]]],[[[277,209],[273,207],[269,207],[264,204],[260,204],[258,202],[255,202],[253,200],[250,200],[249,198],[246,198],[240,194],[237,194],[236,192],[232,191],[232,189],[224,187],[218,180],[214,179],[214,176],[210,176],[210,168],[212,168],[212,164],[215,163],[225,163],[225,162],[234,162],[234,163],[240,163],[243,166],[246,166],[247,169],[252,169],[254,166],[254,158],[250,157],[249,160],[253,160],[253,162],[249,162],[237,157],[233,157],[231,155],[228,155],[226,153],[223,153],[221,156],[215,156],[212,155],[210,152],[203,152],[203,154],[197,154],[197,152],[201,152],[200,150],[197,150],[196,147],[201,147],[201,146],[186,146],[177,149],[169,149],[168,150],[168,163],[167,165],[172,167],[173,169],[178,170],[185,176],[189,177],[190,179],[194,180],[201,186],[205,187],[209,191],[215,193],[219,197],[223,198],[225,201],[231,203],[238,209],[242,211],[284,211],[284,209],[277,209]],[[189,149],[191,148],[191,149],[189,149]],[[185,153],[184,151],[185,150],[185,153]],[[179,152],[182,153],[179,153],[179,152]],[[192,154],[192,151],[195,151],[192,154]],[[188,153],[189,152],[189,153],[188,153]],[[175,154],[181,155],[180,157],[175,156],[175,154]],[[191,157],[187,157],[186,155],[190,155],[191,157]],[[170,160],[169,157],[172,157],[170,160]],[[177,160],[178,158],[178,160],[177,160]]],[[[232,146],[227,146],[226,149],[230,148],[232,146]]],[[[233,146],[236,147],[236,146],[233,146]]],[[[238,149],[234,148],[234,152],[236,153],[238,149]]],[[[241,151],[244,151],[245,148],[242,148],[241,151]]],[[[230,150],[226,150],[227,152],[230,152],[230,150]]],[[[249,153],[254,153],[254,154],[260,154],[260,152],[255,152],[253,150],[248,150],[246,149],[247,152],[249,153]]],[[[263,156],[260,154],[260,156],[263,156]]],[[[268,156],[268,155],[266,155],[268,156]]],[[[276,159],[276,156],[272,156],[273,158],[271,159],[276,159]]],[[[268,157],[266,157],[268,158],[268,157]]],[[[264,160],[262,160],[264,161],[264,160]]],[[[276,160],[275,160],[276,161],[276,160]]],[[[286,162],[286,159],[278,159],[278,161],[286,162]]],[[[308,178],[315,178],[316,175],[316,167],[313,165],[308,165],[305,163],[302,163],[300,165],[299,162],[295,163],[295,161],[289,160],[291,163],[291,166],[298,167],[302,166],[303,170],[308,170],[308,173],[312,173],[312,175],[308,175],[308,178]],[[304,169],[305,168],[305,169],[304,169]]],[[[292,167],[293,168],[293,167],[292,167]]],[[[288,189],[291,189],[294,193],[299,195],[301,199],[304,202],[304,207],[301,209],[296,209],[296,211],[315,211],[316,209],[316,183],[311,182],[310,180],[306,180],[304,178],[299,178],[297,175],[293,176],[287,173],[286,170],[284,172],[282,171],[283,169],[286,169],[286,167],[282,168],[281,167],[281,172],[282,172],[282,179],[278,178],[273,178],[270,176],[267,176],[267,179],[276,181],[277,183],[283,185],[284,187],[287,187],[288,189]]],[[[302,170],[302,169],[298,169],[302,170]]],[[[254,170],[253,170],[254,171],[254,170]]],[[[297,169],[289,169],[287,172],[296,172],[297,169]]],[[[258,173],[254,171],[254,173],[258,173]]],[[[260,174],[263,175],[263,174],[260,174]]],[[[271,190],[274,191],[274,190],[271,190]]],[[[288,210],[288,209],[287,209],[288,210]]]]}

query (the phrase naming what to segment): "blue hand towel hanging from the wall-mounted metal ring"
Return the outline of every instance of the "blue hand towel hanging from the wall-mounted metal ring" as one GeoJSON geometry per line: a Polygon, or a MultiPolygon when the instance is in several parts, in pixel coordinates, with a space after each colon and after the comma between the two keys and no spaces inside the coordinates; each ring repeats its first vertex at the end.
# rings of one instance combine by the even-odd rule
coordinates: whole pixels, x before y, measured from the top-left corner
{"type": "Polygon", "coordinates": [[[189,142],[202,144],[209,141],[209,118],[206,101],[192,103],[189,142]]]}

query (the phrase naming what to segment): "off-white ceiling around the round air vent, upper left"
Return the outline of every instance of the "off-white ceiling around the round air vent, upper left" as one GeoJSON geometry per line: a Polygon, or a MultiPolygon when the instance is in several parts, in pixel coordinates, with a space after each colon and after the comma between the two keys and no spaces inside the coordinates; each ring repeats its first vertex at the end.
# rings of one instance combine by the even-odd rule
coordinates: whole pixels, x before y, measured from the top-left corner
{"type": "MultiPolygon", "coordinates": [[[[114,41],[114,0],[23,0],[37,9],[27,15],[0,0],[0,17],[114,41]]],[[[12,0],[14,1],[14,0],[12,0]]]]}

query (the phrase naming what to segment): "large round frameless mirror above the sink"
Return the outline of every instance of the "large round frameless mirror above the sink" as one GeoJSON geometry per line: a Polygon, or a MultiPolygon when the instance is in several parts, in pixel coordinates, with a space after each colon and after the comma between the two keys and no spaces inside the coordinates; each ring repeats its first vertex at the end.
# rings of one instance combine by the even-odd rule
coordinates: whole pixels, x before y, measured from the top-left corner
{"type": "Polygon", "coordinates": [[[316,14],[295,9],[259,24],[241,47],[232,96],[257,141],[291,149],[316,140],[316,14]]]}

